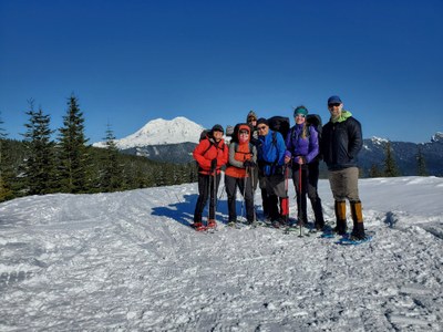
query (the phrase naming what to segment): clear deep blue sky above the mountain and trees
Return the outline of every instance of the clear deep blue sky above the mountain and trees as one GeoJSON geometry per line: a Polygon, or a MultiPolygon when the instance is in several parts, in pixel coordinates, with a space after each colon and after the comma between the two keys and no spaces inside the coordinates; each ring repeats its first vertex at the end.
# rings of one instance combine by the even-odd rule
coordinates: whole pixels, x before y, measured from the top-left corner
{"type": "Polygon", "coordinates": [[[203,126],[326,122],[338,94],[363,136],[443,132],[443,1],[0,0],[0,113],[21,139],[28,100],[62,125],[74,93],[90,142],[154,118],[203,126]]]}

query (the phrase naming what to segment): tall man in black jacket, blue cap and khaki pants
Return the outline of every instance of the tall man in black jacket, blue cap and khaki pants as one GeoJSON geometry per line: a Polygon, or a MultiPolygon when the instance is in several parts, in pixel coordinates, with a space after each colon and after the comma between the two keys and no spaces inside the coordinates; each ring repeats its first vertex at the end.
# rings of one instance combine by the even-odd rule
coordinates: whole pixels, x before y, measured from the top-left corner
{"type": "Polygon", "coordinates": [[[359,197],[359,168],[357,156],[363,145],[361,124],[351,112],[343,110],[341,98],[333,95],[328,98],[328,108],[331,114],[329,122],[323,126],[321,153],[329,170],[329,183],[334,198],[337,226],[339,235],[347,232],[346,199],[351,205],[353,229],[351,239],[365,238],[363,214],[359,197]]]}

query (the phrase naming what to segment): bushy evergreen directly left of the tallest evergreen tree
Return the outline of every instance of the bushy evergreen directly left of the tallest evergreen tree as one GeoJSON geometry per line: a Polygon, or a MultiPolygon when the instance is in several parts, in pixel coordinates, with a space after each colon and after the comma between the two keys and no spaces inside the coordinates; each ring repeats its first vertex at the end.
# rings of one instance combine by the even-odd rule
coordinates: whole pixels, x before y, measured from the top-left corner
{"type": "Polygon", "coordinates": [[[29,101],[27,112],[29,122],[23,134],[27,147],[24,179],[29,195],[43,195],[54,191],[54,143],[51,141],[50,116],[43,111],[34,111],[33,101],[29,101]]]}

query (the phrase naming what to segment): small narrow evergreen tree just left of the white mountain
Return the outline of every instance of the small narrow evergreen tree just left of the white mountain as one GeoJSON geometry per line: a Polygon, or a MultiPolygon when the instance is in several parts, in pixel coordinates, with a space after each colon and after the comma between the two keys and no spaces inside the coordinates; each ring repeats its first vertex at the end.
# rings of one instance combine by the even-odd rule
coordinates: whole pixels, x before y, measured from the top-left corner
{"type": "Polygon", "coordinates": [[[107,125],[106,129],[106,154],[103,158],[100,187],[104,191],[115,191],[123,188],[123,172],[119,159],[119,148],[115,144],[115,136],[107,125]]]}

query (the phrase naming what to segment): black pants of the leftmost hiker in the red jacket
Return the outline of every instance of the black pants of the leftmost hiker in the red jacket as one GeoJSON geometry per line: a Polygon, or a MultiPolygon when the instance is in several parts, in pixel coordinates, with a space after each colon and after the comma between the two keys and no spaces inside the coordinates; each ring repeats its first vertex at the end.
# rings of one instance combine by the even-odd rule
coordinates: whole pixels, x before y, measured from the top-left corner
{"type": "Polygon", "coordinates": [[[220,184],[219,174],[215,176],[215,187],[214,187],[214,176],[198,174],[198,199],[197,204],[195,205],[194,222],[202,222],[203,209],[205,208],[208,198],[210,198],[208,219],[215,219],[215,209],[217,205],[217,193],[219,184],[220,184]]]}

